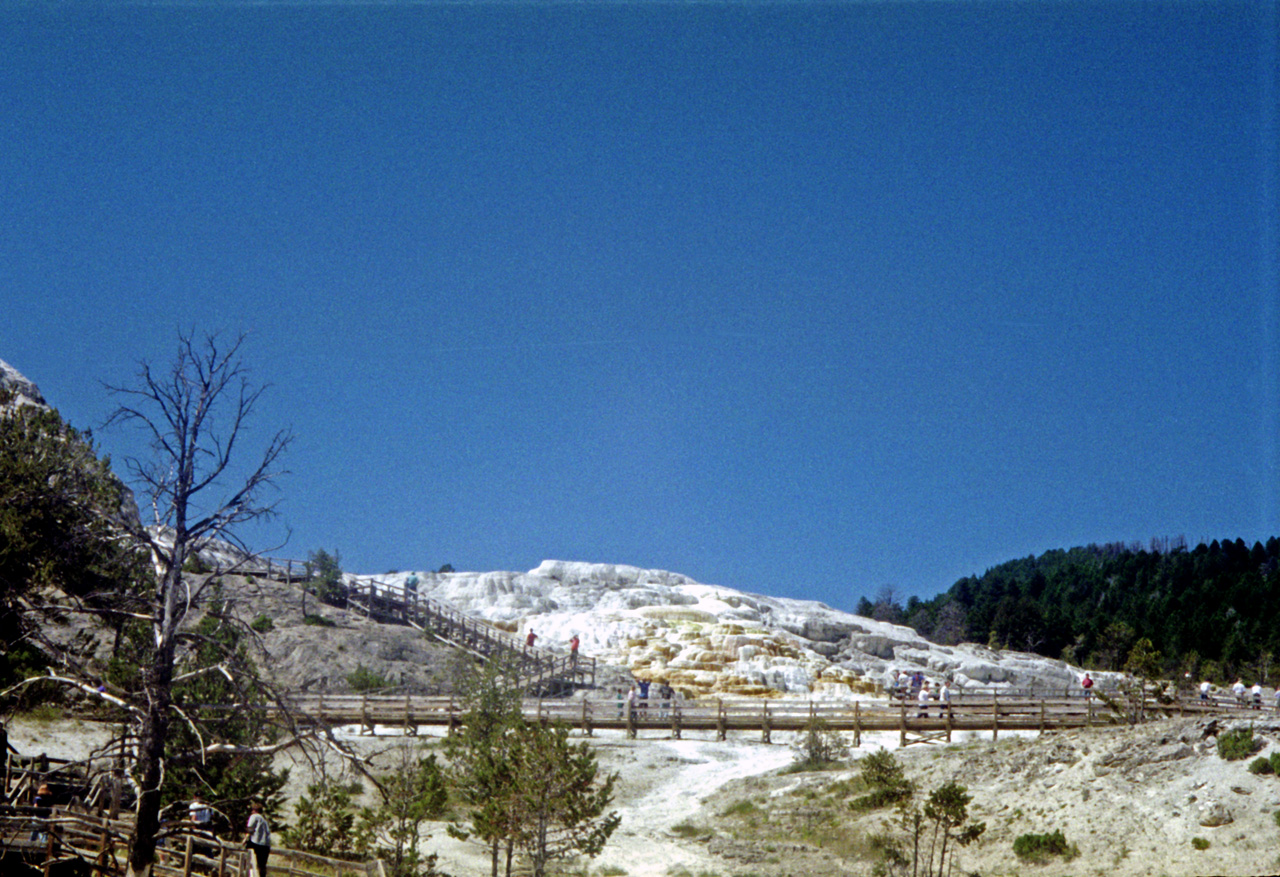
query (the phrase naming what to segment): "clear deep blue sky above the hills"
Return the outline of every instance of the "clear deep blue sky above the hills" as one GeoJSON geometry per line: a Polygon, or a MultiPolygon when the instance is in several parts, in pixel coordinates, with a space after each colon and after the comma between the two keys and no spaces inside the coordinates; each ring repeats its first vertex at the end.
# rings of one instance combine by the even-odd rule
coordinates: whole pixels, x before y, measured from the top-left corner
{"type": "Polygon", "coordinates": [[[364,572],[851,608],[1266,539],[1276,31],[1257,0],[9,3],[0,358],[93,426],[179,328],[250,332],[257,424],[297,433],[280,553],[364,572]]]}

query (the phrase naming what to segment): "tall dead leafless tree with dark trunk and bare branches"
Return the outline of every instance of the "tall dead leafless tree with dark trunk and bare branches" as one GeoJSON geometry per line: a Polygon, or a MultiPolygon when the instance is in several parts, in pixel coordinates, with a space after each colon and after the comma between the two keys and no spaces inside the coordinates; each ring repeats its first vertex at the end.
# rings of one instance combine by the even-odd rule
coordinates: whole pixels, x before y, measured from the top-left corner
{"type": "Polygon", "coordinates": [[[151,455],[125,460],[140,487],[154,524],[134,535],[155,565],[155,585],[143,595],[141,613],[151,630],[146,663],[141,667],[141,695],[131,703],[138,726],[137,822],[129,848],[129,877],[150,877],[160,833],[161,784],[170,723],[186,721],[173,702],[174,667],[183,622],[200,602],[204,583],[183,576],[188,557],[214,540],[243,548],[236,527],[271,517],[274,489],[284,474],[280,462],[293,435],[275,433],[260,456],[236,469],[234,455],[246,438],[265,385],[248,380],[241,361],[244,335],[227,343],[216,334],[196,339],[179,333],[178,351],[164,370],[141,365],[137,384],[109,385],[122,399],[109,420],[132,424],[150,438],[151,455]]]}

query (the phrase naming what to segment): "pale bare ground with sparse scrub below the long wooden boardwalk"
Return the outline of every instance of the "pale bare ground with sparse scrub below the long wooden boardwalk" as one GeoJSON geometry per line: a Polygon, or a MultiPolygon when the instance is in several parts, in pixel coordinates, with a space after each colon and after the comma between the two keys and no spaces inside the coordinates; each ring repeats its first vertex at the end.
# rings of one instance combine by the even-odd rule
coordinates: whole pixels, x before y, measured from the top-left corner
{"type": "MultiPolygon", "coordinates": [[[[955,873],[992,874],[1270,874],[1280,872],[1280,778],[1258,776],[1249,760],[1225,762],[1215,734],[1247,720],[1170,720],[1138,727],[1062,731],[1044,736],[977,735],[951,745],[899,750],[908,777],[923,793],[947,781],[973,796],[972,819],[987,831],[960,851],[955,873]],[[1046,864],[1020,862],[1015,837],[1061,830],[1079,854],[1046,864]],[[1198,850],[1193,839],[1207,841],[1198,850]]],[[[1280,721],[1253,722],[1261,755],[1280,750],[1280,721]]],[[[77,720],[18,718],[10,740],[24,754],[83,758],[109,728],[77,720]]],[[[362,752],[390,750],[392,735],[347,735],[362,752]]],[[[742,735],[710,739],[593,739],[602,767],[620,775],[622,816],[604,853],[576,873],[634,877],[756,874],[870,874],[874,844],[888,812],[850,812],[841,786],[858,773],[780,773],[792,749],[742,735]]],[[[428,745],[424,735],[412,745],[428,745]]],[[[438,740],[435,740],[438,743],[438,740]]],[[[854,758],[896,735],[865,736],[854,758]]],[[[305,791],[308,767],[294,764],[291,795],[305,791]]],[[[918,796],[918,800],[923,795],[918,796]]],[[[443,826],[430,849],[456,877],[488,874],[485,851],[451,840],[443,826]]]]}

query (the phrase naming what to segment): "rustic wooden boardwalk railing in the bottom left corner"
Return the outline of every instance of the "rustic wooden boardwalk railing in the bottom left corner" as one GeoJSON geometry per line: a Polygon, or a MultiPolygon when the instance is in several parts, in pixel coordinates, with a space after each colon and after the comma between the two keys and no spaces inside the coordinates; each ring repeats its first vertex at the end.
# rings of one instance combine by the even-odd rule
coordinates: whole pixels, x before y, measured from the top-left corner
{"type": "MultiPolygon", "coordinates": [[[[76,859],[99,874],[123,874],[132,832],[131,819],[108,819],[58,807],[0,808],[0,846],[37,863],[46,874],[54,865],[76,859]]],[[[268,869],[289,877],[378,877],[384,871],[376,859],[347,862],[280,846],[271,848],[268,869]]],[[[156,849],[154,873],[253,877],[255,869],[243,845],[175,826],[156,849]]]]}

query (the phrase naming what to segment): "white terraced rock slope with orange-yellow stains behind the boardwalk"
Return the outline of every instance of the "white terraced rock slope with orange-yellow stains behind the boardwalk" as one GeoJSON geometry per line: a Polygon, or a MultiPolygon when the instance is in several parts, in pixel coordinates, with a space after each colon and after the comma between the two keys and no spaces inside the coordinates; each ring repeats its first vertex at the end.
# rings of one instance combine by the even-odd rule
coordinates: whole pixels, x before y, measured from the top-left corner
{"type": "MultiPolygon", "coordinates": [[[[942,647],[909,627],[812,600],[746,594],[662,570],[544,561],[529,572],[396,572],[348,576],[416,586],[425,597],[526,635],[581,650],[686,695],[855,698],[895,670],[922,670],[968,689],[1079,685],[1061,661],[980,645],[942,647]],[[415,581],[416,580],[416,581],[415,581]]],[[[1110,680],[1102,679],[1101,684],[1110,680]]]]}

